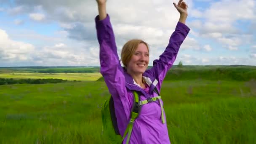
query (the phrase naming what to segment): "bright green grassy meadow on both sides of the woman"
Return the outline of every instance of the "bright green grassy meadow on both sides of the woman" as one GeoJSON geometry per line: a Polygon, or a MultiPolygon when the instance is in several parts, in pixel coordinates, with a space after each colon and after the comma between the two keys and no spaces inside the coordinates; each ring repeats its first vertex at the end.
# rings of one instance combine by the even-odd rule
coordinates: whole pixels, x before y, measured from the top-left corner
{"type": "MultiPolygon", "coordinates": [[[[168,73],[160,91],[172,144],[256,144],[256,80],[249,77],[254,73],[239,69],[247,78],[237,80],[221,79],[232,72],[214,79],[179,70],[168,73]]],[[[98,108],[109,93],[95,79],[0,85],[0,144],[111,143],[102,139],[98,108]]]]}

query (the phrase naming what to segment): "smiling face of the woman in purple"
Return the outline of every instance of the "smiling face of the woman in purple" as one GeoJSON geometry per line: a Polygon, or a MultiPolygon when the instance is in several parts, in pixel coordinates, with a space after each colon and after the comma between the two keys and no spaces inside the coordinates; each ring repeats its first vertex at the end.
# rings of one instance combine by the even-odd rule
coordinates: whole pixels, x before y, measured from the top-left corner
{"type": "Polygon", "coordinates": [[[131,75],[143,74],[146,71],[148,64],[149,51],[144,43],[140,43],[127,65],[127,71],[131,75]]]}

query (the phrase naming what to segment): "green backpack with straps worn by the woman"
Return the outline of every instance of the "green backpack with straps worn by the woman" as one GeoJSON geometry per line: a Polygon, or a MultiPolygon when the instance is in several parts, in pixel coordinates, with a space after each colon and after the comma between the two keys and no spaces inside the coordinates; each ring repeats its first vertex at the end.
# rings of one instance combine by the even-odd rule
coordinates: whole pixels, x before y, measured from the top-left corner
{"type": "MultiPolygon", "coordinates": [[[[154,90],[157,92],[158,96],[146,99],[144,101],[140,101],[139,94],[136,91],[133,91],[134,101],[133,101],[133,107],[132,107],[131,116],[130,116],[130,122],[125,130],[123,138],[117,126],[117,118],[115,116],[114,101],[112,96],[110,96],[110,98],[104,102],[104,106],[101,109],[101,118],[102,118],[101,136],[103,137],[103,139],[109,141],[109,143],[112,143],[112,144],[121,144],[125,136],[128,134],[128,137],[126,140],[126,144],[128,144],[131,137],[131,131],[133,128],[134,120],[136,120],[136,118],[139,116],[139,113],[141,111],[141,106],[149,102],[153,102],[161,99],[161,96],[159,95],[157,89],[155,88],[154,90]]],[[[160,102],[160,106],[162,111],[162,122],[165,123],[165,120],[163,118],[163,106],[161,102],[160,102]]]]}

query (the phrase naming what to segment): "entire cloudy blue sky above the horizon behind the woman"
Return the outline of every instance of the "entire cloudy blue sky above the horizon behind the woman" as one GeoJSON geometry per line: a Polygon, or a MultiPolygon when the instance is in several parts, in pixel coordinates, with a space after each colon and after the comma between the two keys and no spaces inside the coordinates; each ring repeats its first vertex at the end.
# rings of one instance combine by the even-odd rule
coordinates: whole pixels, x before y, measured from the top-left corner
{"type": "MultiPolygon", "coordinates": [[[[179,21],[178,0],[107,0],[118,54],[149,44],[149,65],[179,21]]],[[[256,66],[256,0],[184,0],[190,28],[174,64],[256,66]]],[[[0,0],[0,67],[100,66],[95,0],[0,0]]]]}

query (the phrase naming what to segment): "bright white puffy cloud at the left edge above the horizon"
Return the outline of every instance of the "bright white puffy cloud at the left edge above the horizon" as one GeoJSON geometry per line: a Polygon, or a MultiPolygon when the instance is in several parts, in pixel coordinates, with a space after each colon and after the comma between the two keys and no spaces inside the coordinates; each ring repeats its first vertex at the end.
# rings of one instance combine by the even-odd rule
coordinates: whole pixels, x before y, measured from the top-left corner
{"type": "Polygon", "coordinates": [[[8,34],[0,29],[0,63],[3,61],[28,61],[34,50],[34,45],[11,40],[8,34]]]}

